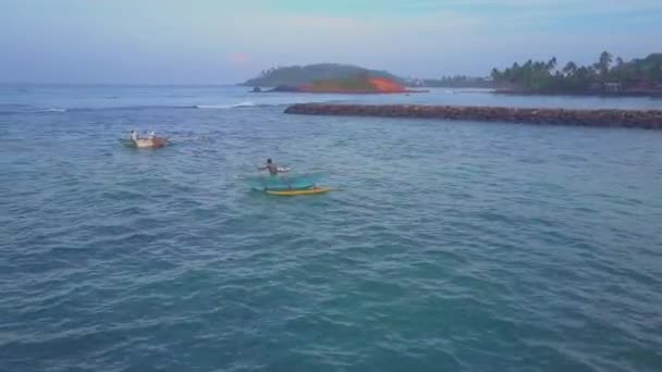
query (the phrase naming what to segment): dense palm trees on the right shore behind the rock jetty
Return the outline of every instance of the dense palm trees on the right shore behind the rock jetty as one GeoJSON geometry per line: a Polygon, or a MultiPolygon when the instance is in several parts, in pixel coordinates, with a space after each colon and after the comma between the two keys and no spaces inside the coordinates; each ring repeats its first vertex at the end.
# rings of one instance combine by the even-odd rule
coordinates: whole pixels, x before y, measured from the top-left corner
{"type": "Polygon", "coordinates": [[[559,69],[556,58],[528,60],[500,71],[492,70],[495,85],[514,92],[540,94],[662,94],[662,53],[625,62],[606,51],[591,65],[568,62],[559,69]]]}

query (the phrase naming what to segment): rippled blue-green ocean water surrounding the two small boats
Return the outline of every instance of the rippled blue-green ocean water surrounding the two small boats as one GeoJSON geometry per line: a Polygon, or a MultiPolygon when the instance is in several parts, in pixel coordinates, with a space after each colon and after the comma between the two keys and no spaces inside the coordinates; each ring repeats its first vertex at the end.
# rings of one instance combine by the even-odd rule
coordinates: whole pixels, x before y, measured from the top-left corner
{"type": "Polygon", "coordinates": [[[662,370],[661,132],[307,101],[662,108],[1,86],[0,371],[662,370]],[[250,191],[266,158],[336,190],[250,191]]]}

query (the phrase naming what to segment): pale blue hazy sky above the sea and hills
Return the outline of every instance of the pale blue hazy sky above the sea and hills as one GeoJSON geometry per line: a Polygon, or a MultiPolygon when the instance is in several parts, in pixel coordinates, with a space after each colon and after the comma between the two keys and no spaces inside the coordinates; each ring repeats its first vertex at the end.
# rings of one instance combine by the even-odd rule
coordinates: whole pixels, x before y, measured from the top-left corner
{"type": "Polygon", "coordinates": [[[487,76],[662,51],[662,0],[0,0],[0,82],[226,84],[338,62],[487,76]]]}

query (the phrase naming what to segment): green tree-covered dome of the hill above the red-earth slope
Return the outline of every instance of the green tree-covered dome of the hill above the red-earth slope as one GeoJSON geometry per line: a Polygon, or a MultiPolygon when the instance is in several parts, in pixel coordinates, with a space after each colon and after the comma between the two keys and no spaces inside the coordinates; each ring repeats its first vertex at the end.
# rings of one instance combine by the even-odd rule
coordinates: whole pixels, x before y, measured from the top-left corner
{"type": "Polygon", "coordinates": [[[402,80],[385,71],[368,70],[350,64],[318,63],[306,66],[271,67],[262,71],[260,76],[248,79],[242,85],[254,87],[299,86],[316,80],[346,79],[355,76],[402,80]]]}

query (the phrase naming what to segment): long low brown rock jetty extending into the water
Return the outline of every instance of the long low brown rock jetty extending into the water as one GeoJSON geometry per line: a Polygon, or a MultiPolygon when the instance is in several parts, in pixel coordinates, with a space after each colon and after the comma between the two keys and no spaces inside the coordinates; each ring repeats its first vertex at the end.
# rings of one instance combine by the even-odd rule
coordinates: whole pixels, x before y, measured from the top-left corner
{"type": "Polygon", "coordinates": [[[599,127],[662,129],[662,110],[566,110],[420,104],[298,103],[285,113],[306,115],[424,117],[599,127]]]}

